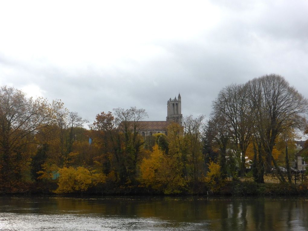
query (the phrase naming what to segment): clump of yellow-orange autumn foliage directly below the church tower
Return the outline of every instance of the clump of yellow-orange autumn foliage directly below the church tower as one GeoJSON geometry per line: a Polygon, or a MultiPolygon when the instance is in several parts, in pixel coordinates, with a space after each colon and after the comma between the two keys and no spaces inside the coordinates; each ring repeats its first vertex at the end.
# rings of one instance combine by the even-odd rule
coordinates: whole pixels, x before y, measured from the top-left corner
{"type": "Polygon", "coordinates": [[[183,127],[171,123],[167,131],[166,140],[160,140],[165,139],[165,135],[157,135],[150,156],[141,161],[141,182],[155,192],[183,193],[188,190],[188,155],[183,127]]]}

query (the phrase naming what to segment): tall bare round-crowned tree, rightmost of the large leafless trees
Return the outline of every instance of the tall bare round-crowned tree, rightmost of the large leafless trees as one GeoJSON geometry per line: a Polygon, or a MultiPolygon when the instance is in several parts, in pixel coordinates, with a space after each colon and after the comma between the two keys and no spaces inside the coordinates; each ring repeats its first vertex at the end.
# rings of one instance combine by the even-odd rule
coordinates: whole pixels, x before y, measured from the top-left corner
{"type": "MultiPolygon", "coordinates": [[[[254,118],[255,136],[265,151],[266,172],[270,172],[271,162],[277,168],[272,152],[276,138],[286,129],[304,129],[308,101],[280,75],[264,75],[250,80],[249,107],[254,118]]],[[[285,181],[282,173],[281,180],[285,181]]]]}

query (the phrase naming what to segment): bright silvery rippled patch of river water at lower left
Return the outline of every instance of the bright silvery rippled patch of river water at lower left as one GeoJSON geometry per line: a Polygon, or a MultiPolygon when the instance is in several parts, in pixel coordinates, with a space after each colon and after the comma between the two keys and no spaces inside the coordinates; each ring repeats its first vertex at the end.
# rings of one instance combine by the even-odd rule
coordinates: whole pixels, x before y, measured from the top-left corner
{"type": "Polygon", "coordinates": [[[91,214],[0,213],[0,230],[98,231],[98,230],[207,230],[208,223],[162,221],[158,218],[93,216],[91,214]]]}

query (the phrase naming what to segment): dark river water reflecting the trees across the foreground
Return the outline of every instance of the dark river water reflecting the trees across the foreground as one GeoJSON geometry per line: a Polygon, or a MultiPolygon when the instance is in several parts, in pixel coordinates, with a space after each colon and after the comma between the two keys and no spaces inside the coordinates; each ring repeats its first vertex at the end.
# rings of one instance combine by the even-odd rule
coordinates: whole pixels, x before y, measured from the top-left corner
{"type": "Polygon", "coordinates": [[[0,197],[0,230],[308,230],[308,198],[0,197]]]}

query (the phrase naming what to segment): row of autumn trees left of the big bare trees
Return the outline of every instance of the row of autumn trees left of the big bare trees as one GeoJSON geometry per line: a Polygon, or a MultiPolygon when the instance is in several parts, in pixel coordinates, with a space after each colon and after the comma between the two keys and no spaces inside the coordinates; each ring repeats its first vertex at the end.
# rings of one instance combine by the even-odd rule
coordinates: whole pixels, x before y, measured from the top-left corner
{"type": "Polygon", "coordinates": [[[168,136],[144,139],[139,121],[145,117],[144,109],[115,108],[113,113],[98,114],[85,129],[88,121],[68,111],[60,100],[27,98],[13,87],[1,87],[0,192],[189,191],[188,184],[204,172],[200,133],[204,116],[187,117],[185,136],[183,128],[170,124],[168,136]],[[157,159],[157,152],[163,158],[157,159]],[[155,179],[147,175],[149,171],[155,179]]]}

